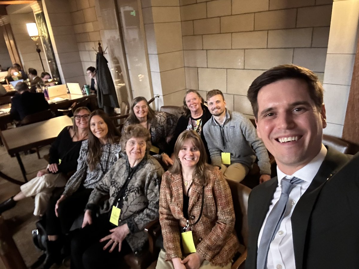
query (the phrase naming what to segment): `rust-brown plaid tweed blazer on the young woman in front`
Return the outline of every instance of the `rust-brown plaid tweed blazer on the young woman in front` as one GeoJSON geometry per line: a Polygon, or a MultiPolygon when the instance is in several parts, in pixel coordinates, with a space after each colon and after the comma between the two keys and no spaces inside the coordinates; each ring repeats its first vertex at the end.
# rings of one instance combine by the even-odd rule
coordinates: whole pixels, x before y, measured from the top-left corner
{"type": "MultiPolygon", "coordinates": [[[[228,264],[239,243],[234,235],[235,215],[232,195],[218,167],[208,165],[209,182],[204,188],[202,216],[202,186],[192,185],[188,205],[189,224],[196,251],[213,265],[228,264]]],[[[166,260],[182,258],[180,229],[186,226],[183,216],[182,175],[165,172],[162,177],[159,199],[159,221],[162,228],[166,260]]]]}

